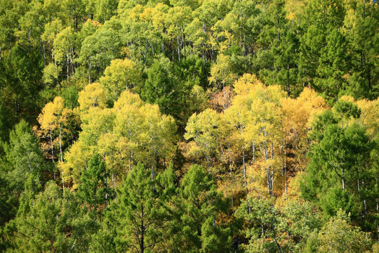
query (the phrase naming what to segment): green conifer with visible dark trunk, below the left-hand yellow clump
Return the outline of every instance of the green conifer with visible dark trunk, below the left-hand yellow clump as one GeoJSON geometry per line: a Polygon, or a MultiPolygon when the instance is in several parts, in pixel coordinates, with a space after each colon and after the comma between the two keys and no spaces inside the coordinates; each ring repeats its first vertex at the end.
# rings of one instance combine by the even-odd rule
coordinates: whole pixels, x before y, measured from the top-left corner
{"type": "Polygon", "coordinates": [[[109,207],[110,227],[114,228],[116,251],[125,247],[133,252],[150,252],[164,240],[164,202],[159,200],[156,181],[149,170],[138,163],[117,190],[117,198],[109,207]]]}

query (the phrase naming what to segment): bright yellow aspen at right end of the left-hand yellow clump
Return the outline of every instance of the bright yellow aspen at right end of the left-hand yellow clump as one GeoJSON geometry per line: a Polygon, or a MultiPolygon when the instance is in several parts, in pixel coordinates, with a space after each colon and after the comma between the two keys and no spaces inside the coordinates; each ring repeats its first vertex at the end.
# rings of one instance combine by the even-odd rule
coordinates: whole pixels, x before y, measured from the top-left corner
{"type": "Polygon", "coordinates": [[[115,134],[119,137],[121,155],[128,158],[129,169],[136,162],[150,163],[152,180],[157,167],[166,167],[175,152],[176,124],[173,117],[162,115],[158,105],[124,91],[117,103],[115,134]]]}

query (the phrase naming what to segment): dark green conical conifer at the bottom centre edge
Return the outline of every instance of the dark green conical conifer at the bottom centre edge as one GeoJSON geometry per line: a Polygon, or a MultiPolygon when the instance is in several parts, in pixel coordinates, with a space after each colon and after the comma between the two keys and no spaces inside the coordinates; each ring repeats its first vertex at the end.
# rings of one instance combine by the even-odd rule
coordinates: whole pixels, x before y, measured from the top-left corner
{"type": "Polygon", "coordinates": [[[229,252],[230,228],[220,220],[227,206],[204,167],[189,168],[177,190],[171,223],[174,252],[229,252]],[[216,223],[217,221],[217,223],[216,223]]]}

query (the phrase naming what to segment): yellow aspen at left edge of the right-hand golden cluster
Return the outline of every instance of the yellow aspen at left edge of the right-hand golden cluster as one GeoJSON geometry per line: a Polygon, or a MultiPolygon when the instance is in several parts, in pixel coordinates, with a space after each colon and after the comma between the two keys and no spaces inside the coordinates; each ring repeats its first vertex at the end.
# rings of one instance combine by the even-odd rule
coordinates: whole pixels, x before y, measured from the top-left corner
{"type": "Polygon", "coordinates": [[[219,177],[220,183],[225,183],[225,193],[229,197],[230,192],[234,213],[234,161],[238,152],[232,128],[232,124],[228,124],[228,119],[222,113],[208,108],[189,118],[184,137],[189,141],[185,155],[199,162],[205,160],[208,173],[219,177]]]}

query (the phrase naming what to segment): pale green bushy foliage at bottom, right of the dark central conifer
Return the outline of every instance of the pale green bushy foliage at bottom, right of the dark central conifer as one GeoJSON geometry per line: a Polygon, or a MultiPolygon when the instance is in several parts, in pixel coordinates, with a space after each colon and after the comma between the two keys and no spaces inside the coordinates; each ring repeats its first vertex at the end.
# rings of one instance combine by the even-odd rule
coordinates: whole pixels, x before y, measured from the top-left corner
{"type": "Polygon", "coordinates": [[[312,232],[320,227],[309,202],[290,201],[284,207],[272,200],[249,197],[236,212],[244,223],[245,252],[302,252],[312,232]]]}

